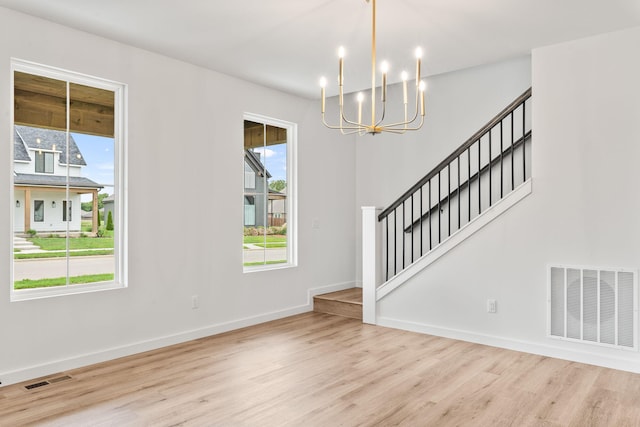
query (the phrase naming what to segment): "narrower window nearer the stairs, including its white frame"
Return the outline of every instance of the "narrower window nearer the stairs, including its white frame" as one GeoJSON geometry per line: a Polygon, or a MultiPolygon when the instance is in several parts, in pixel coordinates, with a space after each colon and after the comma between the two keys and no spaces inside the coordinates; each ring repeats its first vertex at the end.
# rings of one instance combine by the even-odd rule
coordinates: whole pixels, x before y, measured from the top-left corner
{"type": "Polygon", "coordinates": [[[293,123],[256,115],[244,120],[244,271],[294,266],[293,123]]]}

